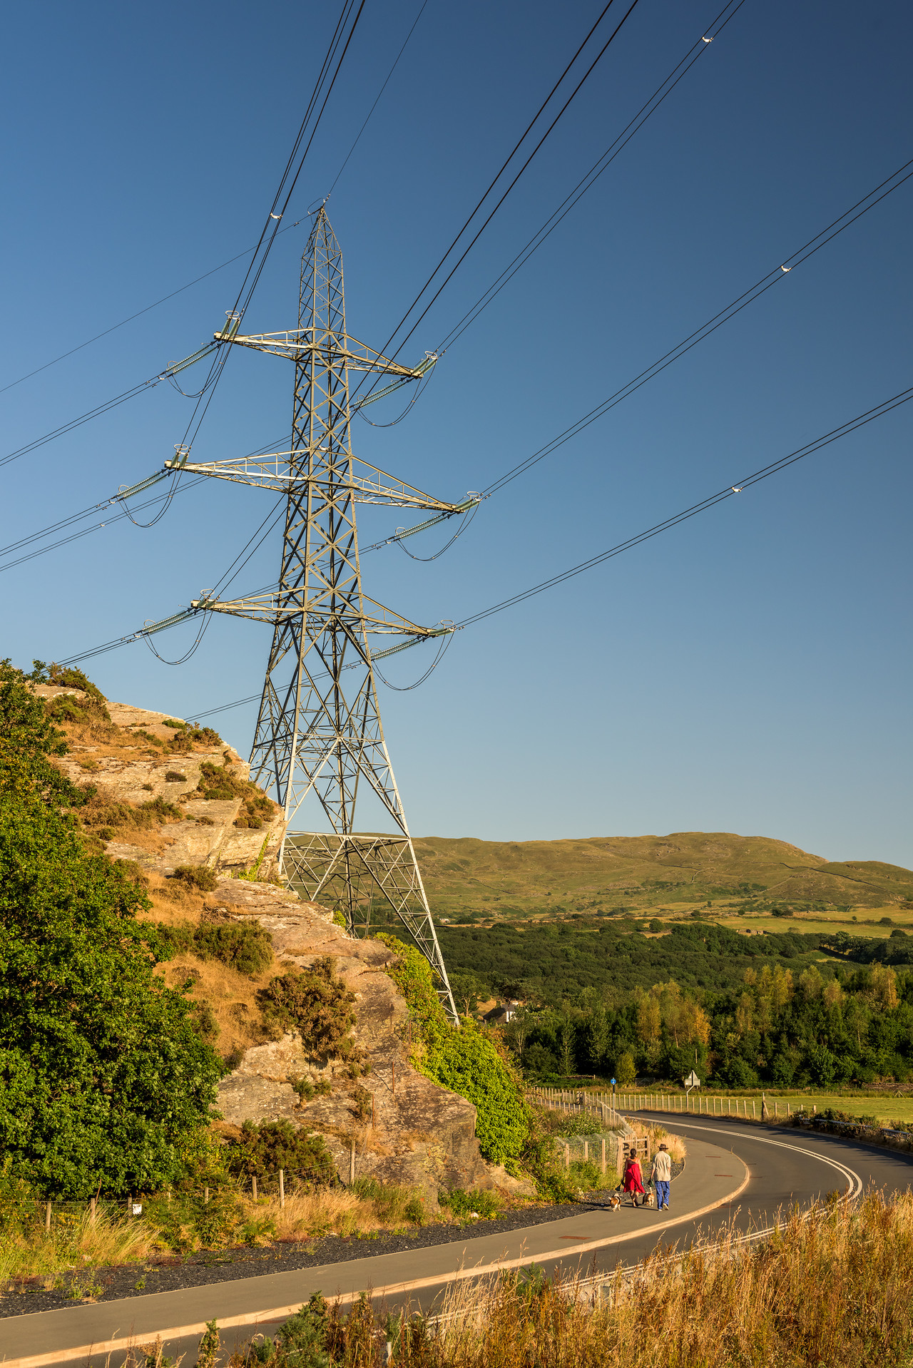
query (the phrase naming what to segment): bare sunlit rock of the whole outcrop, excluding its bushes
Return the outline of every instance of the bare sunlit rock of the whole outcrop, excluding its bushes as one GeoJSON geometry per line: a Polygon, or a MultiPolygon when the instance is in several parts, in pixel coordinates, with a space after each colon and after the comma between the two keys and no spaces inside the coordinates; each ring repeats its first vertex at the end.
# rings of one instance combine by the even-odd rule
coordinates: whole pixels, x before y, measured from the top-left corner
{"type": "MultiPolygon", "coordinates": [[[[88,695],[79,689],[37,685],[36,692],[48,699],[73,695],[77,703],[88,695]]],[[[178,958],[163,966],[172,971],[174,982],[189,975],[201,985],[200,1003],[231,1021],[229,1048],[238,1041],[237,1067],[219,1088],[220,1124],[229,1133],[245,1120],[286,1119],[311,1133],[320,1134],[330,1148],[339,1176],[348,1181],[353,1167],[357,1176],[422,1187],[431,1207],[437,1205],[441,1187],[494,1187],[530,1192],[502,1168],[487,1164],[475,1138],[475,1107],[464,1097],[448,1092],[420,1074],[411,1062],[408,1008],[398,989],[385,973],[390,951],[381,941],[357,940],[334,923],[333,914],[316,903],[268,882],[277,871],[277,856],[285,833],[281,811],[263,821],[260,828],[235,825],[242,815],[242,793],[249,777],[245,761],[214,732],[167,726],[181,718],[126,703],[107,702],[107,720],[78,721],[63,725],[68,732],[70,752],[59,759],[62,770],[78,784],[90,782],[104,804],[127,804],[141,808],[163,799],[168,808],[164,821],[156,818],[155,829],[130,825],[130,813],[119,814],[119,825],[105,833],[97,824],[112,859],[130,859],[163,878],[149,881],[152,911],[145,914],[170,923],[192,917],[207,921],[256,921],[270,933],[278,964],[275,971],[292,966],[311,966],[320,956],[333,956],[335,971],[355,993],[353,1027],[361,1074],[339,1059],[315,1059],[298,1033],[289,1031],[279,1040],[263,1042],[257,1030],[257,985],[268,981],[237,974],[220,967],[231,982],[204,982],[211,966],[193,966],[193,958],[178,958]],[[178,744],[175,744],[178,737],[178,744]],[[164,744],[162,744],[164,743],[164,744]],[[197,792],[214,791],[212,772],[220,785],[240,796],[207,799],[197,792]],[[175,813],[182,814],[175,817],[175,813]],[[205,900],[198,892],[168,876],[181,865],[207,866],[222,877],[205,900]],[[256,873],[263,881],[231,877],[256,873]],[[209,1000],[205,995],[209,993],[209,1000]],[[250,1042],[250,1044],[248,1044],[250,1042]],[[370,1068],[364,1068],[364,1066],[370,1068]],[[293,1083],[308,1079],[322,1085],[305,1101],[293,1083]]],[[[96,802],[96,799],[93,799],[96,802]]],[[[260,800],[261,802],[261,800],[260,800]]],[[[104,808],[107,811],[107,807],[104,808]]],[[[136,815],[136,814],[134,814],[136,815]]],[[[114,811],[111,821],[118,819],[114,811]]],[[[209,975],[211,978],[212,975],[209,975]]],[[[304,1089],[307,1092],[307,1088],[304,1089]]]]}

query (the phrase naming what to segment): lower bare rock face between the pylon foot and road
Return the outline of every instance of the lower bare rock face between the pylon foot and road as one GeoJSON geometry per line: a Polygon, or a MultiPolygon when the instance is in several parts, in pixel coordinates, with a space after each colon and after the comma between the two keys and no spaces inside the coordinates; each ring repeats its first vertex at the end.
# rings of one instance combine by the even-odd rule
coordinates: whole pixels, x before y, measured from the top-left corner
{"type": "Polygon", "coordinates": [[[355,1164],[356,1176],[423,1187],[433,1205],[439,1187],[528,1190],[479,1155],[475,1107],[409,1063],[408,1008],[383,970],[391,958],[386,945],[355,940],[324,908],[271,885],[226,880],[212,899],[233,919],[255,917],[286,964],[307,967],[334,956],[356,995],[353,1034],[371,1063],[370,1074],[353,1083],[344,1066],[309,1059],[296,1033],[255,1045],[219,1088],[229,1124],[282,1118],[305,1126],[324,1137],[344,1179],[355,1164]],[[333,1090],[303,1104],[292,1086],[298,1078],[327,1079],[333,1090]]]}

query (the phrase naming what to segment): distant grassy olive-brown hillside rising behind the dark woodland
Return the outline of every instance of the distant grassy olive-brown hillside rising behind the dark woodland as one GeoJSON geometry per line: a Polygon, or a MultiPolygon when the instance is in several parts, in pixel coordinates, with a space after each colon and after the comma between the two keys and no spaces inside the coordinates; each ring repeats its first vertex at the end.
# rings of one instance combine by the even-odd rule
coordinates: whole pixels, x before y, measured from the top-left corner
{"type": "Polygon", "coordinates": [[[561,841],[431,836],[415,845],[433,910],[450,919],[673,914],[708,900],[746,912],[905,902],[913,908],[913,870],[877,860],[832,863],[762,836],[673,832],[561,841]]]}

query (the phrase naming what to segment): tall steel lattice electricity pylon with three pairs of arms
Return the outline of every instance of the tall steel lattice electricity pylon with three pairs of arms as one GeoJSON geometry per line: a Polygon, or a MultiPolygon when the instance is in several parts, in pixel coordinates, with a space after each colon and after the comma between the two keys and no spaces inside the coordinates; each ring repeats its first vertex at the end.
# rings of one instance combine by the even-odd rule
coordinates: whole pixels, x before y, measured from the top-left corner
{"type": "MultiPolygon", "coordinates": [[[[355,503],[387,503],[463,513],[478,499],[445,503],[352,457],[349,372],[389,375],[379,394],[417,380],[428,356],[408,368],[350,338],[345,323],[342,254],[320,209],[301,259],[298,327],[292,332],[238,335],[231,319],[216,341],[268,352],[294,363],[292,450],[192,464],[179,450],[171,468],[286,492],[282,566],[275,588],[231,602],[201,598],[194,609],[272,624],[250,777],[267,788],[294,822],[305,798],[316,798],[329,832],[292,832],[281,869],[308,899],[331,900],[346,925],[364,934],[372,906],[390,908],[437,974],[438,993],[459,1021],[419,873],[412,837],[383,737],[371,639],[405,637],[375,651],[393,654],[445,636],[361,590],[355,503]],[[393,834],[356,830],[356,803],[368,785],[391,819],[393,834]]],[[[370,395],[374,399],[378,395],[370,395]]],[[[364,402],[364,401],[363,401],[364,402]]]]}

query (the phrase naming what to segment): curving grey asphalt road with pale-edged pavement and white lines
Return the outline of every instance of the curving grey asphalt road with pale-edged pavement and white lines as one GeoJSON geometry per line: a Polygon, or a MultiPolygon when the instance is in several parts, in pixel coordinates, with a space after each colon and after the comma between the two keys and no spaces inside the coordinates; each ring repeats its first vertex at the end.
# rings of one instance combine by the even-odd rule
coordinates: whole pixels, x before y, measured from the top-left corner
{"type": "MultiPolygon", "coordinates": [[[[645,1119],[660,1119],[656,1112],[643,1115],[645,1119]]],[[[512,1257],[515,1264],[535,1261],[546,1274],[612,1271],[617,1265],[636,1263],[657,1248],[673,1244],[680,1248],[695,1238],[705,1239],[731,1222],[743,1231],[768,1226],[791,1205],[808,1205],[831,1192],[857,1196],[868,1187],[879,1187],[891,1193],[913,1185],[913,1157],[906,1155],[856,1145],[831,1135],[803,1130],[768,1130],[724,1118],[661,1119],[668,1130],[679,1131],[689,1140],[689,1166],[672,1185],[672,1226],[665,1224],[664,1213],[650,1209],[609,1215],[594,1208],[583,1218],[558,1219],[548,1226],[531,1227],[527,1233],[515,1235],[511,1245],[505,1237],[497,1235],[467,1238],[463,1254],[465,1268],[512,1257]],[[727,1198],[739,1187],[742,1190],[736,1197],[724,1200],[713,1211],[689,1215],[727,1198]],[[613,1242],[597,1249],[586,1248],[589,1242],[606,1238],[613,1242]],[[567,1253],[556,1256],[556,1250],[567,1253]],[[539,1257],[539,1253],[546,1252],[552,1252],[552,1256],[539,1257]]],[[[390,1309],[408,1305],[434,1311],[453,1275],[453,1267],[445,1270],[439,1259],[434,1250],[415,1249],[404,1254],[359,1260],[357,1264],[309,1270],[307,1278],[298,1275],[294,1282],[289,1282],[289,1274],[238,1280],[222,1285],[222,1293],[216,1298],[219,1305],[214,1301],[214,1289],[140,1298],[148,1302],[144,1308],[120,1302],[116,1304],[122,1313],[116,1328],[111,1320],[114,1308],[104,1308],[105,1332],[129,1332],[134,1324],[131,1317],[142,1312],[145,1323],[140,1338],[148,1341],[155,1338],[149,1335],[149,1327],[156,1323],[156,1316],[162,1317],[157,1324],[166,1330],[171,1326],[196,1324],[212,1315],[227,1316],[224,1308],[229,1305],[242,1312],[248,1305],[250,1309],[266,1309],[300,1304],[316,1287],[326,1295],[337,1291],[345,1294],[356,1287],[389,1287],[383,1300],[390,1309]],[[437,1276],[438,1271],[442,1276],[437,1276]],[[415,1280],[423,1280],[424,1286],[404,1293],[394,1290],[397,1282],[415,1280]]],[[[0,1321],[0,1358],[15,1361],[40,1354],[42,1368],[56,1368],[57,1364],[63,1368],[64,1363],[73,1368],[73,1358],[56,1357],[56,1346],[85,1345],[96,1338],[96,1332],[85,1331],[96,1324],[101,1330],[101,1312],[103,1306],[79,1306],[0,1321]]],[[[282,1317],[264,1319],[257,1328],[275,1334],[281,1320],[282,1317]]],[[[250,1337],[253,1328],[224,1331],[224,1349],[230,1353],[250,1337]]],[[[103,1334],[97,1334],[97,1338],[103,1338],[103,1334]]],[[[183,1354],[183,1368],[192,1368],[198,1339],[197,1332],[166,1339],[164,1352],[174,1358],[183,1354]]],[[[92,1368],[103,1368],[105,1357],[93,1354],[92,1368]]],[[[118,1368],[122,1358],[123,1354],[114,1354],[111,1368],[118,1368]]],[[[86,1368],[86,1356],[78,1364],[79,1368],[86,1368]]]]}

